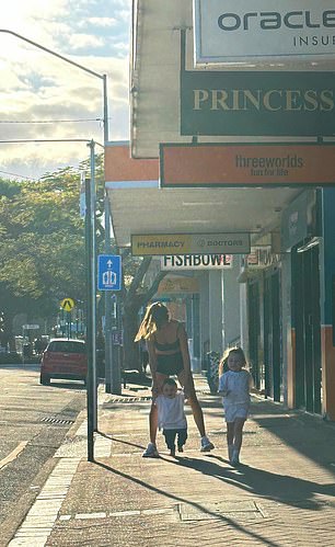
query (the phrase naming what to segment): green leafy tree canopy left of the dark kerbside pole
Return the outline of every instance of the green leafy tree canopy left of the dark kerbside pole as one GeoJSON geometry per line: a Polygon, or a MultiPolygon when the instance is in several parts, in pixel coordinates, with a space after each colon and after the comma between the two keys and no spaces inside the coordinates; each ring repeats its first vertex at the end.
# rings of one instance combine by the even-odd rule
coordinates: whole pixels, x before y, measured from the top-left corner
{"type": "Polygon", "coordinates": [[[84,289],[84,233],[78,175],[23,183],[0,201],[0,282],[14,296],[59,299],[84,289]],[[77,214],[73,214],[76,210],[77,214]]]}

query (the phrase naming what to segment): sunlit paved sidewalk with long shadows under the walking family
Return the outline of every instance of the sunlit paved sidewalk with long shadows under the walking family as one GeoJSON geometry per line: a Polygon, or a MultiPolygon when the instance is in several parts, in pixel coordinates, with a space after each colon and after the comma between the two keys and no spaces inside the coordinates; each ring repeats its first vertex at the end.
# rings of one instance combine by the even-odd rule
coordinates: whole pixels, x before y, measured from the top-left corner
{"type": "Polygon", "coordinates": [[[150,390],[100,390],[95,463],[82,413],[9,544],[30,546],[334,546],[335,425],[254,397],[241,460],[227,460],[221,399],[196,376],[216,449],[199,452],[189,412],[185,453],[142,458],[150,390]]]}

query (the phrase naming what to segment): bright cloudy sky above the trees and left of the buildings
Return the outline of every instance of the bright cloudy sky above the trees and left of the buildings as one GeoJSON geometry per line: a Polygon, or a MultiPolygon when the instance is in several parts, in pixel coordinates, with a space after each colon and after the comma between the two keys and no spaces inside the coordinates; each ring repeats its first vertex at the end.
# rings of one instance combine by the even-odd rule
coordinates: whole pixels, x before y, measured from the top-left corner
{"type": "MultiPolygon", "coordinates": [[[[109,140],[129,138],[131,0],[10,0],[1,31],[107,76],[109,140]]],[[[89,158],[84,139],[103,144],[103,81],[0,32],[0,176],[38,179],[89,158]]],[[[102,150],[96,146],[96,151],[102,150]]]]}

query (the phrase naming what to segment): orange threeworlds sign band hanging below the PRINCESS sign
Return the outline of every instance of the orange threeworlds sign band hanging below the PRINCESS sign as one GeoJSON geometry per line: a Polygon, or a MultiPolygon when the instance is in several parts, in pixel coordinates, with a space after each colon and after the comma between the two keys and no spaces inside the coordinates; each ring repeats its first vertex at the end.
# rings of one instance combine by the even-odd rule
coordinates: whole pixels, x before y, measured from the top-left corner
{"type": "Polygon", "coordinates": [[[161,145],[162,186],[335,184],[335,145],[161,145]]]}

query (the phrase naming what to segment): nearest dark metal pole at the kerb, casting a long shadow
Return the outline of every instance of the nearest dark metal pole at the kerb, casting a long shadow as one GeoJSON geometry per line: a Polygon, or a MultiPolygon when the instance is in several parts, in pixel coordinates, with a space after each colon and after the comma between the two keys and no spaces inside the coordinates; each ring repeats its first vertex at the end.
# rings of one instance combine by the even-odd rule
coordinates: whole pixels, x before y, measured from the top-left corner
{"type": "Polygon", "coordinates": [[[86,406],[88,406],[88,460],[94,461],[94,409],[93,409],[93,310],[92,310],[92,223],[91,223],[91,181],[85,180],[85,258],[86,258],[86,349],[88,349],[88,379],[86,379],[86,406]]]}

